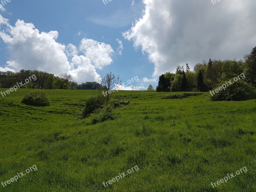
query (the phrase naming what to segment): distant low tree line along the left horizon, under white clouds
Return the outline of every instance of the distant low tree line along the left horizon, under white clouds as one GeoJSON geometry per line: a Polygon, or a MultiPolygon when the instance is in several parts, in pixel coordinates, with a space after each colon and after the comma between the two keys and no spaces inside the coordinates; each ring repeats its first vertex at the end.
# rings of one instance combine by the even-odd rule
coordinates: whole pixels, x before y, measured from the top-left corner
{"type": "Polygon", "coordinates": [[[54,76],[51,73],[38,70],[20,70],[20,72],[2,72],[0,71],[0,88],[10,88],[17,82],[24,82],[28,77],[35,75],[36,80],[26,83],[21,88],[27,89],[69,89],[69,90],[85,90],[100,89],[101,85],[97,82],[86,82],[77,84],[72,76],[68,73],[61,73],[54,76]]]}

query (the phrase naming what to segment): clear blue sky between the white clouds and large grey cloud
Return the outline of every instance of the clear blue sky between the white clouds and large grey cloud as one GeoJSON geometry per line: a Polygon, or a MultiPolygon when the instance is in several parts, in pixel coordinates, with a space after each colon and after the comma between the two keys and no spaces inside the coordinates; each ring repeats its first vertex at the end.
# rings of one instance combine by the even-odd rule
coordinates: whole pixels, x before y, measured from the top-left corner
{"type": "MultiPolygon", "coordinates": [[[[141,1],[131,4],[132,0],[112,0],[106,5],[100,0],[12,0],[4,5],[6,11],[1,14],[12,26],[20,19],[26,23],[33,23],[40,32],[58,31],[57,42],[60,44],[71,43],[78,47],[83,38],[110,44],[115,51],[112,56],[113,62],[102,70],[97,70],[97,73],[104,76],[111,71],[120,75],[126,82],[134,76],[142,80],[145,76],[151,76],[154,71],[154,64],[149,62],[147,54],[135,50],[133,42],[125,40],[122,36],[122,32],[130,29],[132,22],[142,16],[144,9],[141,1]],[[116,51],[119,46],[117,38],[124,46],[122,55],[116,51]],[[148,65],[151,65],[151,69],[148,65]]],[[[0,66],[4,67],[9,59],[9,53],[3,40],[0,40],[0,46],[0,66]]],[[[138,82],[137,85],[141,83],[138,82]]]]}

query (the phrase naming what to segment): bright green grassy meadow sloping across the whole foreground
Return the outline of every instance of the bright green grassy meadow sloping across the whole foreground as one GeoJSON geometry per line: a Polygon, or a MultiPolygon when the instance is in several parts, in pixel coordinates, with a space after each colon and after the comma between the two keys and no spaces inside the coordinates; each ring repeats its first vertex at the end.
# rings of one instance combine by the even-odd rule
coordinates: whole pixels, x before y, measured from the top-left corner
{"type": "Polygon", "coordinates": [[[1,192],[256,191],[256,100],[119,91],[112,97],[131,100],[115,109],[120,117],[91,125],[90,117],[75,118],[83,107],[64,103],[84,102],[95,91],[42,90],[49,107],[21,104],[30,91],[0,97],[0,182],[33,165],[37,171],[0,185],[1,192]],[[136,165],[139,171],[104,187],[136,165]],[[212,187],[245,166],[247,172],[212,187]]]}

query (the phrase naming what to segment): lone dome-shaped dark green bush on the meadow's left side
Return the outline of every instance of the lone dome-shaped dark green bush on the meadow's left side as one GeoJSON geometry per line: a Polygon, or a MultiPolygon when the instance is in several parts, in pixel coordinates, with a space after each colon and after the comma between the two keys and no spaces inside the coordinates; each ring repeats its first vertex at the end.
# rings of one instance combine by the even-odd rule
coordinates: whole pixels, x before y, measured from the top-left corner
{"type": "Polygon", "coordinates": [[[27,93],[22,99],[21,103],[37,107],[44,107],[50,105],[50,101],[47,98],[47,95],[41,91],[27,93]]]}

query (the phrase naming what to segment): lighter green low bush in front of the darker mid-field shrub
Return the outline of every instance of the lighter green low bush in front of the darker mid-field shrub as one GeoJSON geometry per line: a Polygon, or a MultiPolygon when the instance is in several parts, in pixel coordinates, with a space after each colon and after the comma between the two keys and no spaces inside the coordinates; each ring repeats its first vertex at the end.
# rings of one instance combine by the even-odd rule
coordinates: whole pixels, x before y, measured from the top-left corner
{"type": "Polygon", "coordinates": [[[111,105],[106,105],[104,108],[96,109],[94,111],[94,114],[92,114],[92,124],[114,120],[117,117],[118,114],[113,112],[113,107],[111,105]]]}

